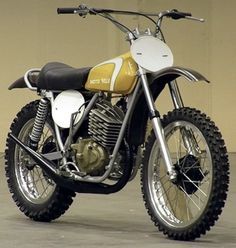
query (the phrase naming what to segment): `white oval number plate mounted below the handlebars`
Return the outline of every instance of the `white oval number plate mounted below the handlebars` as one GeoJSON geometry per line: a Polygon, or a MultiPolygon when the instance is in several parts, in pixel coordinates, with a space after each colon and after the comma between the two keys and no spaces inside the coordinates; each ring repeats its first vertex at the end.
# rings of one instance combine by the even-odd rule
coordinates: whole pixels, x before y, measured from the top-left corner
{"type": "Polygon", "coordinates": [[[170,48],[153,36],[141,36],[130,47],[134,61],[144,69],[156,72],[173,65],[170,48]]]}

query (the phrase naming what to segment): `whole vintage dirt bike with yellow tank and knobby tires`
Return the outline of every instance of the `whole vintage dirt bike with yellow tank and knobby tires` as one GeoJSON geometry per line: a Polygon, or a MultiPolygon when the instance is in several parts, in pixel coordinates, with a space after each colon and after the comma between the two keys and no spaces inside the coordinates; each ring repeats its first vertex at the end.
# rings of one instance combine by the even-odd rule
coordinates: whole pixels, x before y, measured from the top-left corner
{"type": "Polygon", "coordinates": [[[205,234],[227,197],[227,150],[215,123],[184,106],[176,82],[208,80],[173,66],[161,30],[164,17],[203,20],[178,10],[153,14],[86,5],[59,8],[58,14],[111,21],[126,33],[130,51],[88,68],[47,63],[9,87],[41,97],[21,109],[7,138],[6,176],[19,209],[49,222],[65,213],[76,192],[118,192],[140,169],[143,200],[158,229],[177,240],[205,234]],[[131,30],[113,14],[142,16],[155,29],[131,30]],[[154,102],[165,86],[174,108],[161,118],[154,102]]]}

